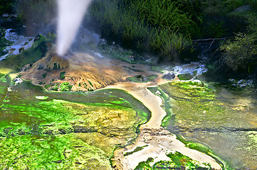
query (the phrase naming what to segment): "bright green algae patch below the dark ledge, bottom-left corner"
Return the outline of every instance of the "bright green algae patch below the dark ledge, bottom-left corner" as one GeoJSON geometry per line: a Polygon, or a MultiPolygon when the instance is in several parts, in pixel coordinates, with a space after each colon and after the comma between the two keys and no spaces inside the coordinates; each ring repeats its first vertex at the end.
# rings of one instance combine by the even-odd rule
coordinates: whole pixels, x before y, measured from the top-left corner
{"type": "Polygon", "coordinates": [[[4,153],[0,162],[7,169],[81,169],[97,164],[101,169],[110,169],[102,150],[75,135],[11,137],[1,140],[0,145],[4,153]]]}

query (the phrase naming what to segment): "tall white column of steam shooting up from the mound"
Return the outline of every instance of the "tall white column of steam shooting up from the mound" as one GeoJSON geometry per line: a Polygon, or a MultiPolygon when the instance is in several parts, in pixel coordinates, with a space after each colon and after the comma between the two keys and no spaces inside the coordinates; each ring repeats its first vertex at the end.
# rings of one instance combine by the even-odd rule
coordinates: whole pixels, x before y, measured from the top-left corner
{"type": "Polygon", "coordinates": [[[57,0],[58,26],[56,51],[64,55],[77,34],[91,0],[57,0]]]}

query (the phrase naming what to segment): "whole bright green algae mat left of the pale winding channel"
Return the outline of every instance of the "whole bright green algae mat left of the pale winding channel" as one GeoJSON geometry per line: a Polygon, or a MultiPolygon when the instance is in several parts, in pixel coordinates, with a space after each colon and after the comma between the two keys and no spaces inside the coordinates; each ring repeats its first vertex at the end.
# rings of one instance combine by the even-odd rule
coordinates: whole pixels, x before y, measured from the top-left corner
{"type": "Polygon", "coordinates": [[[0,169],[111,169],[150,111],[120,90],[49,92],[1,74],[0,169]]]}

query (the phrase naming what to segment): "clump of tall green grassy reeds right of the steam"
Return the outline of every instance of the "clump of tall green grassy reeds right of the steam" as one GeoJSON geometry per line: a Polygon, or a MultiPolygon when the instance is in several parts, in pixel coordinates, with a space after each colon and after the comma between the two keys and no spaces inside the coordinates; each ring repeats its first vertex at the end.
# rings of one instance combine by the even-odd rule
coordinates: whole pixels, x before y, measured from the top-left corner
{"type": "Polygon", "coordinates": [[[187,1],[98,0],[93,2],[90,13],[103,37],[174,59],[192,47],[188,35],[196,23],[191,14],[182,10],[187,7],[187,1]]]}

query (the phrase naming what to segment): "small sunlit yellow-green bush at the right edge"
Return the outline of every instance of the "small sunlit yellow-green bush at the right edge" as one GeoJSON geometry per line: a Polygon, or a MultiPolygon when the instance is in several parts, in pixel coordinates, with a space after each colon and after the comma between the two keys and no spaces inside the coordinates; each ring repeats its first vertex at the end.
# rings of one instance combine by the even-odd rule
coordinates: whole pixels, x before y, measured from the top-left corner
{"type": "Polygon", "coordinates": [[[224,61],[234,71],[250,72],[256,65],[256,38],[251,35],[238,33],[234,41],[228,41],[221,46],[224,50],[224,61]]]}

